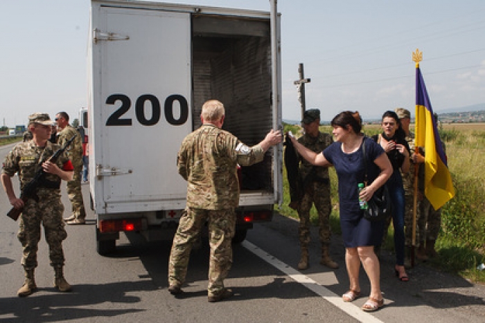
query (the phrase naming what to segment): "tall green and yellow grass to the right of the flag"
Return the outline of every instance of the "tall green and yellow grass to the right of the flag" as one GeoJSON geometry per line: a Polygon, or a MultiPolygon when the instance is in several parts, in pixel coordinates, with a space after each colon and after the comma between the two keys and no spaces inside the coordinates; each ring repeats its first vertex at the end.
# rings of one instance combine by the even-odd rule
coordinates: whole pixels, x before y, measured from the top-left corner
{"type": "Polygon", "coordinates": [[[485,261],[485,129],[440,127],[439,133],[448,138],[446,155],[456,193],[443,206],[437,241],[441,266],[485,282],[485,271],[475,270],[485,261]]]}

